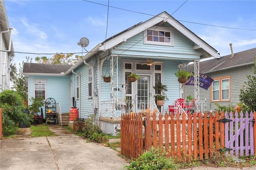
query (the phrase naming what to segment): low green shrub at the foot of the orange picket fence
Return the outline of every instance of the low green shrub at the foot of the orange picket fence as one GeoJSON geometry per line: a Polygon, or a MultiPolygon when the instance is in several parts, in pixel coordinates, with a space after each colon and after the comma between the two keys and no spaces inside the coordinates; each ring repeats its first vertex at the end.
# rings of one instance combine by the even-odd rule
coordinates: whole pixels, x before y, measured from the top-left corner
{"type": "Polygon", "coordinates": [[[152,147],[136,160],[132,160],[125,168],[128,170],[175,170],[178,169],[178,165],[166,152],[152,147]]]}

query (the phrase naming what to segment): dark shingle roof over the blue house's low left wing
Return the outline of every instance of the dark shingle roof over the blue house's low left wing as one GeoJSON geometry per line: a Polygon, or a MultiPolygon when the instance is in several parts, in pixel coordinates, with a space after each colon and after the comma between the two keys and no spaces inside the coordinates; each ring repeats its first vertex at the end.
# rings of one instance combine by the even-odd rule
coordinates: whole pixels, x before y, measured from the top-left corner
{"type": "Polygon", "coordinates": [[[70,69],[68,64],[24,63],[23,73],[62,73],[70,69]]]}

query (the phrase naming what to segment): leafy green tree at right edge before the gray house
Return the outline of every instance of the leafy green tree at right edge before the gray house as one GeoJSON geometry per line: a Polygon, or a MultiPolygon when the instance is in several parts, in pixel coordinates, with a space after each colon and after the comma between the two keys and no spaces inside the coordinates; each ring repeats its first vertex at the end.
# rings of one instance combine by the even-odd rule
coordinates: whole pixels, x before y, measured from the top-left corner
{"type": "Polygon", "coordinates": [[[250,110],[256,111],[256,59],[254,59],[252,66],[252,73],[254,75],[246,75],[248,81],[245,82],[244,87],[240,90],[240,101],[248,106],[250,110]]]}

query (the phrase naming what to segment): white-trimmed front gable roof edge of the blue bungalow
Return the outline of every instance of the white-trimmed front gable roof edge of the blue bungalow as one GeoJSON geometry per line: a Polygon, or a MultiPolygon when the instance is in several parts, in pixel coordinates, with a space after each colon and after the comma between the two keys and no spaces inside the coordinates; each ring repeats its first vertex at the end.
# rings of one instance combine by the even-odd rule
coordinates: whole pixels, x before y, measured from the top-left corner
{"type": "Polygon", "coordinates": [[[194,50],[202,49],[206,57],[220,58],[220,55],[217,53],[218,51],[216,51],[216,49],[214,49],[204,40],[196,36],[196,34],[194,34],[192,31],[190,31],[188,28],[186,28],[184,25],[182,25],[180,22],[178,22],[176,19],[170,16],[170,14],[168,14],[167,12],[162,12],[145,22],[140,22],[108,38],[107,40],[101,43],[101,46],[99,47],[99,49],[100,50],[110,49],[115,45],[118,45],[119,43],[125,42],[128,38],[131,38],[132,36],[146,30],[147,28],[150,28],[156,24],[159,24],[160,22],[168,22],[175,29],[177,29],[182,34],[184,34],[184,36],[186,36],[188,39],[194,42],[196,44],[193,47],[194,50]]]}

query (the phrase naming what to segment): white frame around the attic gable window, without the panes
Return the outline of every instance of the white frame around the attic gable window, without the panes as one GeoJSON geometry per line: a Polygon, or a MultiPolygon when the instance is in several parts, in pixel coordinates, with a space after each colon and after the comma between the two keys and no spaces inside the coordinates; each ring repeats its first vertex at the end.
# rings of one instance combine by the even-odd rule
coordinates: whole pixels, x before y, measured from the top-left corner
{"type": "Polygon", "coordinates": [[[146,29],[146,30],[143,31],[143,36],[144,36],[144,44],[174,46],[174,28],[152,26],[152,27],[150,27],[150,28],[148,28],[148,29],[146,29]],[[148,40],[147,40],[147,30],[170,32],[170,42],[154,42],[154,41],[148,41],[148,40]]]}

